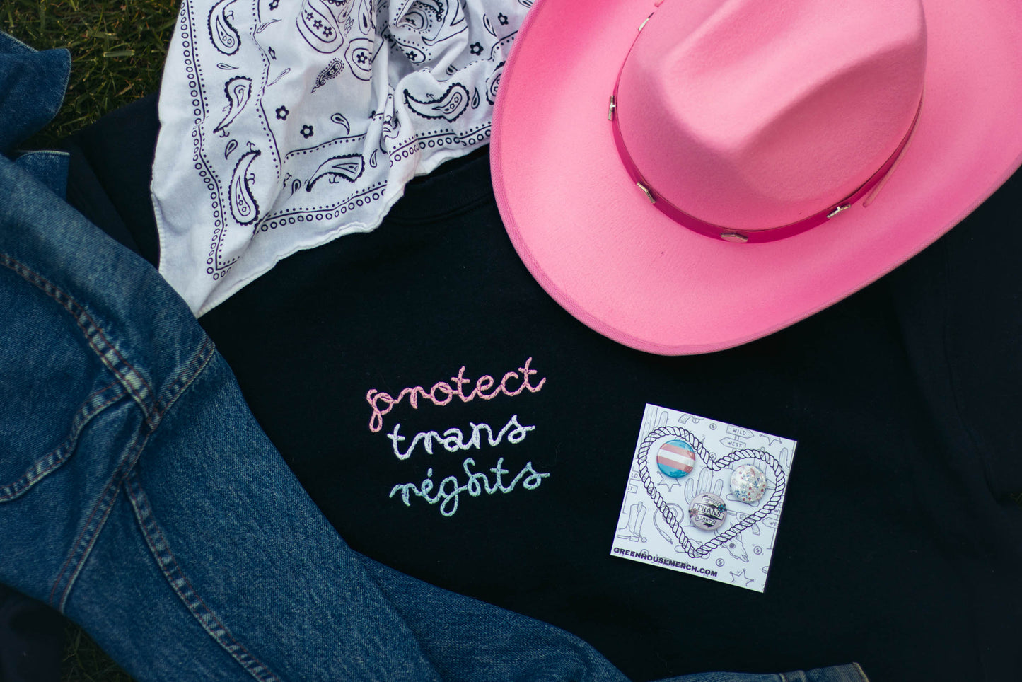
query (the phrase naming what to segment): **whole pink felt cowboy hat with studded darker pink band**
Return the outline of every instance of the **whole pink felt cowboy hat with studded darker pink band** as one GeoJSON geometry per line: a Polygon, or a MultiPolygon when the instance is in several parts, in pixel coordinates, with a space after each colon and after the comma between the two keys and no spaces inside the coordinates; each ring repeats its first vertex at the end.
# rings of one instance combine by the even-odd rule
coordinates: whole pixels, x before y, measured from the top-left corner
{"type": "Polygon", "coordinates": [[[568,312],[650,353],[738,346],[1019,167],[1022,2],[540,0],[491,154],[508,234],[568,312]]]}

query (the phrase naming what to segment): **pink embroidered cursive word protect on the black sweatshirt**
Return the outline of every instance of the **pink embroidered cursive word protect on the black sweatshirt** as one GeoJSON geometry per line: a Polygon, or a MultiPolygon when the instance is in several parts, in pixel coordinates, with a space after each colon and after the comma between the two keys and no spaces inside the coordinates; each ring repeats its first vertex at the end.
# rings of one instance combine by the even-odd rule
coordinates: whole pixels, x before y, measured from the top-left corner
{"type": "Polygon", "coordinates": [[[490,374],[483,374],[475,380],[475,388],[472,389],[468,395],[465,395],[464,387],[472,383],[472,379],[465,378],[464,366],[458,370],[458,376],[451,377],[451,383],[448,383],[447,381],[437,381],[429,391],[426,391],[422,387],[409,387],[407,389],[403,389],[402,392],[398,394],[398,397],[394,398],[388,393],[377,391],[376,389],[370,389],[369,393],[366,394],[366,402],[369,403],[369,406],[373,410],[372,415],[369,417],[369,430],[376,434],[382,429],[383,415],[392,410],[396,405],[401,404],[401,401],[403,401],[406,396],[408,397],[408,404],[412,406],[413,410],[417,410],[419,409],[419,398],[428,400],[433,405],[444,406],[450,403],[455,396],[457,396],[461,402],[467,403],[475,400],[476,398],[480,398],[482,400],[493,400],[501,394],[513,397],[526,390],[530,393],[537,393],[543,389],[543,384],[547,382],[547,379],[546,377],[543,377],[535,385],[530,382],[532,375],[539,373],[529,367],[531,362],[532,358],[529,358],[525,361],[523,366],[518,367],[517,372],[506,372],[500,382],[498,382],[490,374]],[[517,383],[519,380],[521,383],[517,383]],[[515,385],[516,383],[517,387],[515,385]]]}

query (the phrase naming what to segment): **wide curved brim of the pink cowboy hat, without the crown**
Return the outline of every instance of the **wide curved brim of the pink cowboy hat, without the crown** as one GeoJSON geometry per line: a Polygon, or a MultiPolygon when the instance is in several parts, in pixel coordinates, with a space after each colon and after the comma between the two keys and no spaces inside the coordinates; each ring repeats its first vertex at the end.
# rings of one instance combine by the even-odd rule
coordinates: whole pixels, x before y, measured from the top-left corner
{"type": "Polygon", "coordinates": [[[923,104],[875,202],[785,239],[735,244],[651,206],[615,147],[608,97],[649,0],[599,9],[540,0],[501,76],[491,143],[497,203],[519,257],[578,320],[661,355],[759,338],[890,272],[1022,164],[1022,3],[922,4],[923,104]]]}

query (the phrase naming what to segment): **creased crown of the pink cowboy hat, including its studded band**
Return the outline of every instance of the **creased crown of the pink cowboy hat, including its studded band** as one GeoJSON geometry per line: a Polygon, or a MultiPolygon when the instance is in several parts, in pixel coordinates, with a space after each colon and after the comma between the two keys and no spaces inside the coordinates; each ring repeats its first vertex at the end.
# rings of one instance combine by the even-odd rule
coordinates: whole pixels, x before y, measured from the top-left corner
{"type": "Polygon", "coordinates": [[[702,4],[715,10],[667,3],[650,14],[614,85],[608,119],[638,190],[676,223],[739,243],[869,206],[922,107],[919,0],[883,11],[868,0],[788,3],[792,16],[768,40],[762,14],[776,5],[702,4]]]}

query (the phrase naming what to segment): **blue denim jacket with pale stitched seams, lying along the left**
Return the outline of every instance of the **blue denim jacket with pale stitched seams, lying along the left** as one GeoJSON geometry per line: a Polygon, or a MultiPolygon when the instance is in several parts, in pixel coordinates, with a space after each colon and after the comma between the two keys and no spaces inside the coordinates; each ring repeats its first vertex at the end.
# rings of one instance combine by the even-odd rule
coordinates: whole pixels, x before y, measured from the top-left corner
{"type": "MultiPolygon", "coordinates": [[[[65,64],[0,35],[0,83],[33,86],[0,129],[52,109],[65,64]]],[[[138,680],[623,680],[566,632],[352,551],[184,302],[39,173],[0,156],[0,582],[138,680]]],[[[682,679],[865,679],[708,675],[682,679]]]]}

